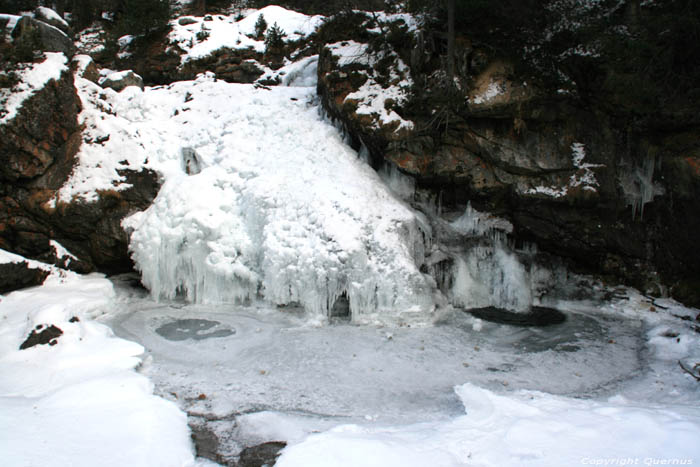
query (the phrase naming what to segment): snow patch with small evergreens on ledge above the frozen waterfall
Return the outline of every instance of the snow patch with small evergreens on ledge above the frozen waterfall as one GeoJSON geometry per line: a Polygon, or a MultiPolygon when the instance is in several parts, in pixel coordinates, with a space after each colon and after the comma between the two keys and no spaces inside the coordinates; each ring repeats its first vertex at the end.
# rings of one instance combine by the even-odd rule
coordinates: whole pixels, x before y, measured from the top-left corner
{"type": "Polygon", "coordinates": [[[185,53],[182,55],[182,63],[190,60],[206,57],[221,48],[246,49],[252,48],[256,52],[265,52],[265,41],[257,40],[255,36],[255,23],[259,15],[264,15],[268,27],[276,22],[285,32],[284,40],[287,42],[303,39],[312,34],[321,25],[322,16],[307,16],[282,7],[271,5],[236,21],[238,15],[210,15],[211,21],[205,21],[204,17],[193,17],[192,24],[181,25],[175,19],[171,22],[172,31],[168,38],[171,45],[177,45],[185,53]],[[199,35],[199,38],[197,37],[199,35]]]}

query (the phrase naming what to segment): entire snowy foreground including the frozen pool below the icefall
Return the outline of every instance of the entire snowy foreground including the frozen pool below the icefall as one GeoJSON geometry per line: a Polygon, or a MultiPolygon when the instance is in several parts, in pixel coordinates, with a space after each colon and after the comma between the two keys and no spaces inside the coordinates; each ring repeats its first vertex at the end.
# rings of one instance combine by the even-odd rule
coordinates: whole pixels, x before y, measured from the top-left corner
{"type": "Polygon", "coordinates": [[[700,389],[678,365],[700,360],[679,318],[697,310],[626,293],[559,303],[568,320],[542,329],[458,311],[317,327],[299,309],[156,303],[124,278],[56,272],[0,301],[3,463],[204,465],[176,405],[223,451],[288,442],[281,466],[697,463],[700,389]],[[39,325],[63,334],[19,350],[39,325]]]}

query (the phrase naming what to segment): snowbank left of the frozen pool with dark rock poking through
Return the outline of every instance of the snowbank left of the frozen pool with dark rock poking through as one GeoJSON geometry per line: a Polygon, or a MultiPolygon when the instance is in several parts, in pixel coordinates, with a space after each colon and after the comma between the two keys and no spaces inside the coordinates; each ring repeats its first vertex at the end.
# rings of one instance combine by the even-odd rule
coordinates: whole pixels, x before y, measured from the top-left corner
{"type": "Polygon", "coordinates": [[[108,307],[99,275],[54,276],[0,301],[0,452],[5,466],[186,466],[184,413],[133,371],[143,348],[90,319],[108,307]],[[52,345],[19,350],[54,326],[52,345]]]}

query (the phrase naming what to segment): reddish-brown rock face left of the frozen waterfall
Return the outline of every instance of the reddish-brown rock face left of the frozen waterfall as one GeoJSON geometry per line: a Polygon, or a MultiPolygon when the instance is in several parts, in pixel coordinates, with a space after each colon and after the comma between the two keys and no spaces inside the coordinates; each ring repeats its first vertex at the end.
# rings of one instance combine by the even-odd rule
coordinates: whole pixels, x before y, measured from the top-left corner
{"type": "Polygon", "coordinates": [[[129,271],[121,219],[148,206],[159,182],[152,172],[123,171],[133,184],[129,190],[102,192],[94,203],[55,203],[81,145],[80,109],[73,75],[66,70],[0,125],[0,248],[78,272],[129,271]],[[51,240],[76,258],[58,258],[51,240]]]}

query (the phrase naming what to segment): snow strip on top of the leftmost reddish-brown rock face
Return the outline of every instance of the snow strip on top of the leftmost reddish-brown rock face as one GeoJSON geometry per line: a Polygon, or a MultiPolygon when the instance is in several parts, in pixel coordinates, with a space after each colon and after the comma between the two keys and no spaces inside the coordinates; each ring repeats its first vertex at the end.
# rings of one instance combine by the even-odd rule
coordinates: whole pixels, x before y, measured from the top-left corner
{"type": "Polygon", "coordinates": [[[32,63],[18,72],[19,83],[11,89],[0,90],[0,125],[10,122],[24,101],[46,86],[58,80],[68,70],[68,59],[59,52],[46,52],[41,63],[32,63]]]}

